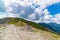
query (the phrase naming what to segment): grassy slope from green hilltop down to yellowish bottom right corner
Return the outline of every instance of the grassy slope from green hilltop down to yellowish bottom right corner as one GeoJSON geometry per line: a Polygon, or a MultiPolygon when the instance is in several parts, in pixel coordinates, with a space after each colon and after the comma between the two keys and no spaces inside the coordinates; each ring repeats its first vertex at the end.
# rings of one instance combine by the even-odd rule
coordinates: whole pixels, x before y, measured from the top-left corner
{"type": "Polygon", "coordinates": [[[7,21],[8,24],[15,24],[18,26],[24,26],[25,24],[29,24],[33,28],[37,29],[36,32],[40,32],[41,34],[51,35],[53,37],[53,40],[60,40],[60,35],[48,31],[44,26],[40,24],[31,22],[31,21],[26,21],[20,18],[9,18],[9,19],[10,21],[7,21]]]}

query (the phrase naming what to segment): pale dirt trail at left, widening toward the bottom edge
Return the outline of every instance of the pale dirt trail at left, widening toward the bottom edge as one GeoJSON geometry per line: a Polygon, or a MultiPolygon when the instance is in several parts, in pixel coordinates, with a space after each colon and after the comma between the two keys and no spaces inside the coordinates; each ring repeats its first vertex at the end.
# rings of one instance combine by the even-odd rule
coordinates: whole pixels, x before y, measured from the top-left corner
{"type": "Polygon", "coordinates": [[[21,40],[13,25],[6,25],[5,35],[2,37],[2,40],[21,40]]]}

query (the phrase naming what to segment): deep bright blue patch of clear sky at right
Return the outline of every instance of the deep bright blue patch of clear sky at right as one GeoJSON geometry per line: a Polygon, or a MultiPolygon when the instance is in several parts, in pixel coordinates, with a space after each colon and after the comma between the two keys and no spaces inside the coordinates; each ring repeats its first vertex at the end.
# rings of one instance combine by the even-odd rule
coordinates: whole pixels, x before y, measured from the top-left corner
{"type": "Polygon", "coordinates": [[[49,7],[47,7],[47,9],[51,13],[51,15],[60,13],[60,3],[50,5],[49,7]]]}

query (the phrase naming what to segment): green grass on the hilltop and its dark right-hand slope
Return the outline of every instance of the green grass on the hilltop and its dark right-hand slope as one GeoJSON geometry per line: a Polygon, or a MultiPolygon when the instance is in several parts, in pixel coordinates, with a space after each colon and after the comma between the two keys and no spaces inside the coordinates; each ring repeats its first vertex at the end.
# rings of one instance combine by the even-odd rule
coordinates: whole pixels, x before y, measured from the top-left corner
{"type": "Polygon", "coordinates": [[[31,22],[31,21],[26,21],[26,20],[21,19],[21,18],[10,18],[10,19],[11,20],[7,22],[8,24],[15,24],[18,26],[25,26],[25,24],[28,24],[36,29],[48,31],[44,26],[37,24],[37,23],[34,23],[34,22],[31,22]]]}

